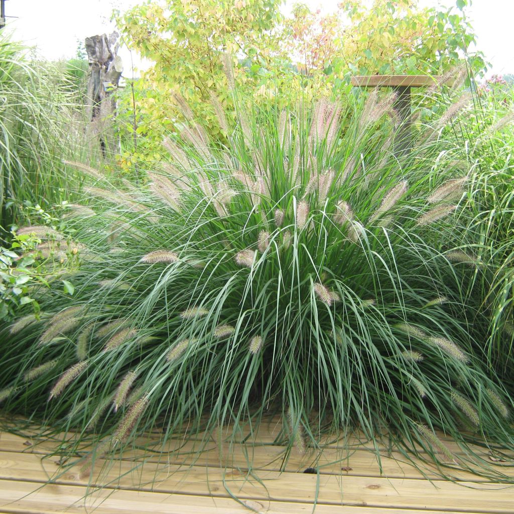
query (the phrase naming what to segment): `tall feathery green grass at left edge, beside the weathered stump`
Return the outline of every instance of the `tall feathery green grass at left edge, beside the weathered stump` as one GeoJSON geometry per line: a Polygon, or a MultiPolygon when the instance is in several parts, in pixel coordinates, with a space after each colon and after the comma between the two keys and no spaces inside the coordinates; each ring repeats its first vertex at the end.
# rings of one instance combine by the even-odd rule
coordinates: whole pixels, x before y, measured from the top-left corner
{"type": "Polygon", "coordinates": [[[45,209],[69,199],[82,181],[63,158],[85,151],[81,106],[59,66],[30,62],[26,48],[0,42],[0,230],[23,222],[26,201],[45,209]]]}

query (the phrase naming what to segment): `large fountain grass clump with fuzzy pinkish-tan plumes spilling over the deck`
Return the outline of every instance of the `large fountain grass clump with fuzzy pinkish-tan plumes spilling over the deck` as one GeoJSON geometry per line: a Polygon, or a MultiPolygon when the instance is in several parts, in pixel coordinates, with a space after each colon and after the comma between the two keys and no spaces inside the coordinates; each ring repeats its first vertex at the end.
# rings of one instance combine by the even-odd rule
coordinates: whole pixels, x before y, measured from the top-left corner
{"type": "Polygon", "coordinates": [[[230,426],[235,442],[269,414],[300,453],[325,427],[453,465],[444,430],[459,466],[507,480],[469,445],[514,449],[514,430],[468,332],[476,269],[451,258],[460,151],[395,156],[386,113],[343,105],[246,112],[227,146],[185,124],[173,173],[91,192],[95,216],[69,221],[95,253],[74,296],[56,286],[44,318],[4,328],[5,408],[109,449],[156,426],[164,441],[230,426]]]}

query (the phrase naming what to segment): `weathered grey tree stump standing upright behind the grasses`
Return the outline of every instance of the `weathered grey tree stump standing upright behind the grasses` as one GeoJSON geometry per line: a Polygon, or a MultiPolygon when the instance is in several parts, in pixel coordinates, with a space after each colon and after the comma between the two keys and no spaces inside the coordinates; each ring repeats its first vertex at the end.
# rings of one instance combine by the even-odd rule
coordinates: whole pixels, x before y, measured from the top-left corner
{"type": "Polygon", "coordinates": [[[112,91],[118,86],[123,71],[117,55],[119,34],[94,35],[86,38],[85,47],[89,61],[87,82],[87,116],[90,133],[98,140],[103,157],[116,152],[113,116],[116,103],[112,91]]]}

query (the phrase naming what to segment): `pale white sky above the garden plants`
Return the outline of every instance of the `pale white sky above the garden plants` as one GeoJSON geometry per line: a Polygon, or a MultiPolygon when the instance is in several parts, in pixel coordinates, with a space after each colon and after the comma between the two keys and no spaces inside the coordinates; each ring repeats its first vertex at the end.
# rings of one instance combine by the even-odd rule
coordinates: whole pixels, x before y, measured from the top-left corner
{"type": "MultiPolygon", "coordinates": [[[[139,0],[141,1],[141,0],[139,0]]],[[[313,8],[322,6],[328,12],[340,0],[303,0],[313,8]]],[[[8,27],[17,40],[36,45],[47,59],[73,57],[77,40],[86,36],[110,32],[115,27],[109,22],[113,7],[122,10],[138,3],[138,0],[7,0],[8,27]]],[[[454,5],[454,0],[420,0],[421,5],[454,5]]],[[[287,1],[290,7],[291,0],[287,1]]],[[[467,12],[478,36],[478,47],[492,64],[493,73],[514,73],[514,52],[508,34],[514,20],[512,0],[473,0],[467,12]]],[[[120,50],[125,76],[130,76],[131,56],[126,49],[120,50]]],[[[136,67],[143,66],[137,56],[136,67]]]]}

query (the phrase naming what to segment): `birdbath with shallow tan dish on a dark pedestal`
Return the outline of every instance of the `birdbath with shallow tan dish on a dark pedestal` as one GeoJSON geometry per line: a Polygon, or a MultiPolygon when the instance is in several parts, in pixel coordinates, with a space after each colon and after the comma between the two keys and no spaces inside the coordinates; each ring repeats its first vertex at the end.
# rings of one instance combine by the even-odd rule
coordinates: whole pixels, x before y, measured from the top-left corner
{"type": "Polygon", "coordinates": [[[356,87],[392,87],[398,93],[393,108],[399,126],[394,135],[393,152],[396,157],[407,155],[412,147],[411,92],[413,87],[434,84],[441,77],[428,75],[363,75],[352,77],[356,87]]]}

